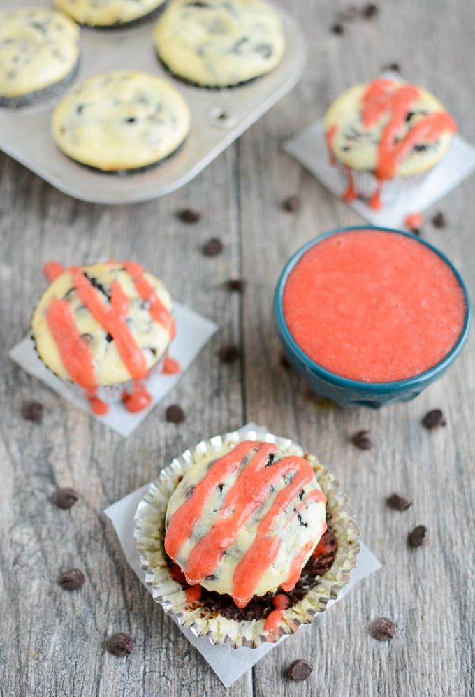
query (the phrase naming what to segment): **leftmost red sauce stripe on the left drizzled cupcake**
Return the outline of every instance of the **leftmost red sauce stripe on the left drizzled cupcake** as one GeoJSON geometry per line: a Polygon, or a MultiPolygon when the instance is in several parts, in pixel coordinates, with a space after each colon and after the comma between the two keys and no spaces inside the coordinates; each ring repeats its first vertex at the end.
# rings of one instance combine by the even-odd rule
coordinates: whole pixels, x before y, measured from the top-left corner
{"type": "Polygon", "coordinates": [[[82,340],[76,329],[70,306],[64,300],[52,300],[46,311],[46,319],[57,344],[61,361],[71,380],[84,387],[93,396],[97,389],[94,356],[89,345],[82,340]]]}

